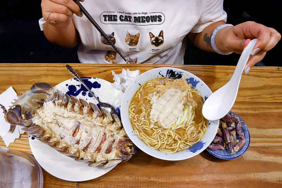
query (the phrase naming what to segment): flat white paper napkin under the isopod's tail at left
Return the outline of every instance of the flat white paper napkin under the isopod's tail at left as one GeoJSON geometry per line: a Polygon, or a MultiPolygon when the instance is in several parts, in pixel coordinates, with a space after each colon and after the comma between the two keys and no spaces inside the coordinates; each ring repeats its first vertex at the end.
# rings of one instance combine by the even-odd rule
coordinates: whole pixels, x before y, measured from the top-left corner
{"type": "MultiPolygon", "coordinates": [[[[14,99],[17,99],[17,93],[10,86],[6,91],[0,94],[0,104],[3,105],[6,110],[10,108],[14,99]]],[[[8,147],[10,143],[14,142],[16,138],[19,138],[20,134],[23,134],[25,131],[21,130],[19,126],[16,126],[13,133],[8,132],[10,129],[10,124],[6,122],[4,118],[3,110],[0,108],[0,136],[8,147]]]]}

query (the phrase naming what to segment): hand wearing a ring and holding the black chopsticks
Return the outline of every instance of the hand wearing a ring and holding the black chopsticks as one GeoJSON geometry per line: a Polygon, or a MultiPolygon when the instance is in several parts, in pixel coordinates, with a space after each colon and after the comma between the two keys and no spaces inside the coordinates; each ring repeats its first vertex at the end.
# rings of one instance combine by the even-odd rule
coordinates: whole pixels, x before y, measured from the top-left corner
{"type": "Polygon", "coordinates": [[[73,14],[83,16],[79,6],[73,0],[42,0],[41,8],[43,18],[47,23],[60,28],[69,25],[73,14]]]}

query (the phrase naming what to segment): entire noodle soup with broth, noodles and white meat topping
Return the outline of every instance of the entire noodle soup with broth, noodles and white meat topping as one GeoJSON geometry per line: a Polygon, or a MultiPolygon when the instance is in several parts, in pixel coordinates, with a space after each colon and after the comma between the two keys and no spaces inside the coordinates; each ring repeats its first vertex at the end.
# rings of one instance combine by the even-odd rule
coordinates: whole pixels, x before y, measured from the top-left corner
{"type": "Polygon", "coordinates": [[[129,105],[133,131],[148,147],[165,153],[187,149],[204,136],[204,100],[185,79],[157,78],[135,92],[129,105]]]}

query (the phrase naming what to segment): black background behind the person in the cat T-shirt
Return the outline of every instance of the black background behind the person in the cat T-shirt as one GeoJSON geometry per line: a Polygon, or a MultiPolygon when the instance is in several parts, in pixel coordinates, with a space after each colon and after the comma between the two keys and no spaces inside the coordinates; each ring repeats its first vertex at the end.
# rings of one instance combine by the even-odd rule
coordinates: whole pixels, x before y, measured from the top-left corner
{"type": "MultiPolygon", "coordinates": [[[[0,7],[0,63],[79,63],[77,47],[62,48],[51,44],[39,28],[42,17],[40,0],[2,1],[0,7]]],[[[281,8],[277,0],[224,1],[227,23],[237,25],[244,21],[255,21],[282,33],[281,8]]],[[[204,52],[190,41],[184,56],[184,63],[190,65],[236,65],[239,54],[228,56],[204,52]]],[[[259,66],[282,66],[281,41],[259,66]]]]}

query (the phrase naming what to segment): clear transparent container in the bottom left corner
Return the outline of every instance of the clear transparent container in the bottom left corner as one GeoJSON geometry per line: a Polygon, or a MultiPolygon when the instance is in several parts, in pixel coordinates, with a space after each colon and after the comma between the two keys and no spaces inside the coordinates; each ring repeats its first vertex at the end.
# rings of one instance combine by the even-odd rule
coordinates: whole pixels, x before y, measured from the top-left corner
{"type": "Polygon", "coordinates": [[[42,169],[32,155],[0,147],[0,187],[42,188],[42,169]]]}

